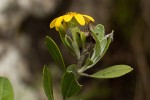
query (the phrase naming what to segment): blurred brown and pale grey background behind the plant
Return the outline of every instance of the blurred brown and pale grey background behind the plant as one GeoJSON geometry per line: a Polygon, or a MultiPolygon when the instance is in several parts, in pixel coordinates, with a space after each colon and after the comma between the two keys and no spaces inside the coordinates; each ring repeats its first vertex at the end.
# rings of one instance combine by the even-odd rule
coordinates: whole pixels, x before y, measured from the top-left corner
{"type": "Polygon", "coordinates": [[[46,100],[41,76],[50,64],[56,100],[61,100],[61,70],[51,59],[46,35],[59,45],[66,65],[75,60],[49,23],[68,11],[87,14],[103,24],[114,40],[106,55],[90,71],[115,64],[134,70],[120,78],[82,78],[82,91],[71,100],[150,100],[150,0],[0,0],[0,76],[13,84],[15,100],[46,100]],[[60,74],[59,74],[60,73],[60,74]]]}

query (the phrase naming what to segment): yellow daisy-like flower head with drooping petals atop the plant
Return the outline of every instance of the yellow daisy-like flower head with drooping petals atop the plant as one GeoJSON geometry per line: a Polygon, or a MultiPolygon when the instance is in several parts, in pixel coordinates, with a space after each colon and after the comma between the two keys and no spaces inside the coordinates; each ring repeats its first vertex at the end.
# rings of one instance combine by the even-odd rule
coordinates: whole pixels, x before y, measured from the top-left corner
{"type": "Polygon", "coordinates": [[[50,23],[50,28],[55,27],[56,29],[58,29],[58,27],[60,27],[64,22],[68,23],[72,21],[72,19],[75,19],[82,26],[90,21],[94,22],[94,19],[91,16],[79,14],[76,12],[68,12],[67,14],[63,16],[55,18],[50,23]]]}

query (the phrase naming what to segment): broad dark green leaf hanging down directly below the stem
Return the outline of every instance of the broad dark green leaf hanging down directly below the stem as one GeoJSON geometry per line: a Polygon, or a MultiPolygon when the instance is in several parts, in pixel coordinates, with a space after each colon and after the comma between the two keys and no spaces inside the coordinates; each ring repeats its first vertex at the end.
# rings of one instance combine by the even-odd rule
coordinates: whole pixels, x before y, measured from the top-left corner
{"type": "Polygon", "coordinates": [[[73,72],[66,72],[64,74],[61,81],[61,85],[61,91],[64,99],[77,94],[82,87],[76,80],[76,77],[73,74],[73,72]]]}

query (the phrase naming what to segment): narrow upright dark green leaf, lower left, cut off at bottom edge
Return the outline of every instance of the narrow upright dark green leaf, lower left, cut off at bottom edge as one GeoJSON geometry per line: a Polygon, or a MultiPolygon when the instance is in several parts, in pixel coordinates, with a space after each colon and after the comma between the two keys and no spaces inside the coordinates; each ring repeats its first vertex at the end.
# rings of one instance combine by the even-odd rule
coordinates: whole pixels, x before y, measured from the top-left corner
{"type": "Polygon", "coordinates": [[[42,79],[42,81],[43,81],[44,92],[45,92],[48,100],[54,100],[53,87],[52,87],[52,77],[51,77],[50,69],[46,65],[43,68],[43,79],[42,79]]]}

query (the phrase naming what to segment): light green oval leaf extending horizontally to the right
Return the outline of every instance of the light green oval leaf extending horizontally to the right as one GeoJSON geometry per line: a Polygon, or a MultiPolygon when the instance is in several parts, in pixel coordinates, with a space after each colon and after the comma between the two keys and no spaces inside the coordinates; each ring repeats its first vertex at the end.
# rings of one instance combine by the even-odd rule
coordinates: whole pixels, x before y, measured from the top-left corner
{"type": "Polygon", "coordinates": [[[90,77],[93,78],[116,78],[131,72],[133,68],[128,65],[114,65],[106,69],[100,70],[90,77]]]}

